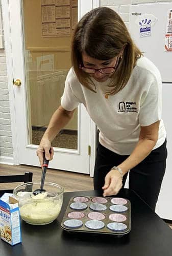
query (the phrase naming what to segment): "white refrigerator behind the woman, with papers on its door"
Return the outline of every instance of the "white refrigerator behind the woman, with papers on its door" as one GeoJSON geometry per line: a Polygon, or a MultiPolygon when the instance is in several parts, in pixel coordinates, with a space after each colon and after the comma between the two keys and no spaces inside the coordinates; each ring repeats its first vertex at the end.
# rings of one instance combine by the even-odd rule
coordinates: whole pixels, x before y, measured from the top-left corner
{"type": "Polygon", "coordinates": [[[135,44],[154,62],[162,76],[162,119],[168,157],[156,213],[172,220],[172,3],[131,5],[129,31],[135,44]]]}

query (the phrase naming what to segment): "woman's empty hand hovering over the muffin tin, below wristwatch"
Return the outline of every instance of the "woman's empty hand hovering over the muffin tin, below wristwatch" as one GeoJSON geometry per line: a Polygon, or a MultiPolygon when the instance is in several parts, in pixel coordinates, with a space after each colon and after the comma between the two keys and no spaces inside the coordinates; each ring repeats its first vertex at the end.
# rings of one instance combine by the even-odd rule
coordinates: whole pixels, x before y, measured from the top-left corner
{"type": "Polygon", "coordinates": [[[122,180],[118,170],[112,169],[105,177],[105,185],[102,187],[104,190],[103,196],[112,196],[118,194],[122,187],[122,180]]]}

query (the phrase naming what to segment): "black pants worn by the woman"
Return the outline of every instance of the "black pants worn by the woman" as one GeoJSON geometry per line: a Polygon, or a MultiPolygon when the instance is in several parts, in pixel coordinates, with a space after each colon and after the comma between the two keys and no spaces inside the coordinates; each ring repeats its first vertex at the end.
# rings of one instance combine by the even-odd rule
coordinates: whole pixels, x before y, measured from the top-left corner
{"type": "MultiPolygon", "coordinates": [[[[118,155],[99,143],[94,167],[94,189],[102,189],[105,176],[113,166],[122,163],[127,156],[118,155]]],[[[166,140],[142,162],[130,170],[129,188],[134,190],[154,211],[165,173],[167,158],[166,140]]],[[[125,186],[127,174],[122,180],[125,186]]]]}

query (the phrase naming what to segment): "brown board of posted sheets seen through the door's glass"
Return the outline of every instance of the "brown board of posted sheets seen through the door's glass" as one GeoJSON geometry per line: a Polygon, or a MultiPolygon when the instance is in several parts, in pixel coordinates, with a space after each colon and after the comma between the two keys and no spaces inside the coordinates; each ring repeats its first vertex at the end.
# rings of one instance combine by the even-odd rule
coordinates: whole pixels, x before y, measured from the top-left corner
{"type": "Polygon", "coordinates": [[[42,37],[71,35],[78,22],[78,1],[41,0],[42,37]]]}

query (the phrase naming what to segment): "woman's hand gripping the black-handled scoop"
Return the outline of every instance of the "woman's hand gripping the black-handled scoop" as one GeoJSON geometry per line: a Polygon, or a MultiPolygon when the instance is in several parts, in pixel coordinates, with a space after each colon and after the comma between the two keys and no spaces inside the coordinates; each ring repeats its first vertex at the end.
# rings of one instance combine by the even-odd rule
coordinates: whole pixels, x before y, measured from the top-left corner
{"type": "Polygon", "coordinates": [[[38,149],[36,151],[36,154],[39,158],[39,162],[42,168],[44,154],[45,154],[46,160],[51,161],[53,159],[54,150],[53,150],[53,147],[51,146],[51,141],[48,139],[42,138],[40,145],[38,146],[38,149]]]}

